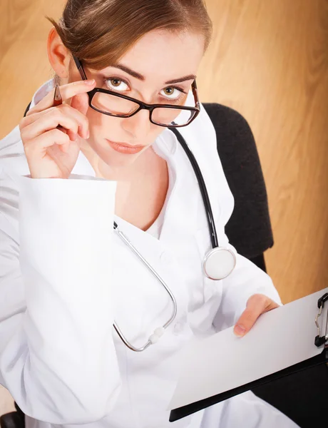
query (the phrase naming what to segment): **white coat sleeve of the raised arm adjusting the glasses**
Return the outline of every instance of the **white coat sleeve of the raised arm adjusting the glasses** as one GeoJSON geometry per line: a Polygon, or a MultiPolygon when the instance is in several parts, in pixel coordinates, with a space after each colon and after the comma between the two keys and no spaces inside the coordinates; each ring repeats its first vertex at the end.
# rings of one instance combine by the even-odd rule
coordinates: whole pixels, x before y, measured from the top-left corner
{"type": "Polygon", "coordinates": [[[0,203],[0,383],[35,419],[94,422],[120,392],[111,299],[115,194],[115,181],[20,176],[19,243],[0,203]],[[26,310],[14,303],[21,287],[26,310]]]}

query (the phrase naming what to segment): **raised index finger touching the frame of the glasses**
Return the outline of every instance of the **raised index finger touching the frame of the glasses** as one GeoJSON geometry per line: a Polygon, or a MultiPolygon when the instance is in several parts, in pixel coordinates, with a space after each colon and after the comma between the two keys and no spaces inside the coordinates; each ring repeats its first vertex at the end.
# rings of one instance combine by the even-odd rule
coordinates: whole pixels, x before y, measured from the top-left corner
{"type": "MultiPolygon", "coordinates": [[[[87,81],[76,81],[72,83],[67,83],[66,85],[59,86],[61,91],[61,98],[63,101],[69,100],[73,96],[78,95],[79,93],[86,93],[91,91],[96,86],[96,81],[94,79],[87,81]]],[[[55,88],[52,91],[47,93],[47,95],[39,101],[31,110],[26,113],[26,116],[37,113],[39,111],[45,110],[46,108],[53,107],[53,96],[55,93],[55,88]]]]}

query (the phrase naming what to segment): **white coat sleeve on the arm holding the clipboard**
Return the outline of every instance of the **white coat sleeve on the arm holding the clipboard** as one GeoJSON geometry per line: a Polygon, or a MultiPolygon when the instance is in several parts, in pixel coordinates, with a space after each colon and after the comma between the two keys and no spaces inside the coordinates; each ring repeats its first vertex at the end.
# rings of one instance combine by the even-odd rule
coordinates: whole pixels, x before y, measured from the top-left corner
{"type": "Polygon", "coordinates": [[[235,325],[246,308],[247,300],[252,295],[260,293],[270,297],[278,305],[282,305],[271,277],[250,260],[238,254],[229,243],[227,248],[235,253],[237,263],[232,273],[222,280],[222,300],[213,322],[217,331],[235,325]]]}

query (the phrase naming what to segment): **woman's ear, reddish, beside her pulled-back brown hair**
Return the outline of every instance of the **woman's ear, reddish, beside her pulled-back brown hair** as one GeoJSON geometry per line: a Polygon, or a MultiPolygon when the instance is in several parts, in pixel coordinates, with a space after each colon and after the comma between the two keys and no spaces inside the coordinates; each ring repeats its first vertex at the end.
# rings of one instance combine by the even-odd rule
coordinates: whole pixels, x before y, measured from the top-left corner
{"type": "Polygon", "coordinates": [[[49,62],[51,63],[53,71],[55,71],[60,78],[68,82],[71,54],[66,46],[64,46],[54,27],[51,28],[48,34],[47,50],[49,62]]]}

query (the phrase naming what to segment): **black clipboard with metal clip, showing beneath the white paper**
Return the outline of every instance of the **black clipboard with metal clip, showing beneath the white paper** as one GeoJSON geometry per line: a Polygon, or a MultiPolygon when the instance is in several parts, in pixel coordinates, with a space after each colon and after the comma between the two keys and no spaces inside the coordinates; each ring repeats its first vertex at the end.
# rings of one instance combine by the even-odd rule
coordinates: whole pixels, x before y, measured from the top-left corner
{"type": "MultiPolygon", "coordinates": [[[[317,294],[317,293],[315,293],[317,294]]],[[[291,365],[289,367],[285,367],[282,370],[274,372],[272,374],[268,374],[267,376],[261,377],[259,379],[255,379],[252,382],[248,382],[247,384],[242,384],[238,387],[229,389],[225,392],[221,392],[220,394],[212,395],[211,397],[207,397],[205,399],[200,399],[197,402],[193,402],[182,407],[177,407],[170,411],[170,422],[175,422],[178,419],[182,419],[183,417],[187,417],[190,414],[195,412],[199,412],[206,407],[210,407],[213,404],[217,404],[226,399],[234,397],[235,395],[242,394],[243,392],[249,391],[250,389],[255,389],[256,387],[260,387],[269,382],[275,381],[277,379],[281,379],[282,377],[289,376],[291,374],[301,372],[302,370],[307,370],[311,367],[315,367],[317,365],[322,365],[328,363],[328,292],[325,292],[323,295],[319,297],[317,300],[317,307],[319,312],[317,316],[313,320],[317,327],[317,335],[314,337],[314,347],[322,348],[322,352],[314,355],[313,357],[308,358],[302,362],[298,362],[297,364],[291,365]],[[326,305],[325,305],[326,303],[326,305]],[[326,322],[325,322],[325,330],[320,326],[320,321],[322,320],[323,312],[326,313],[326,322]],[[324,330],[324,333],[322,331],[324,330]]],[[[323,320],[322,320],[323,321],[323,320]]],[[[324,322],[322,322],[324,324],[324,322]]]]}

